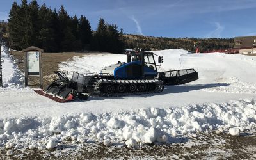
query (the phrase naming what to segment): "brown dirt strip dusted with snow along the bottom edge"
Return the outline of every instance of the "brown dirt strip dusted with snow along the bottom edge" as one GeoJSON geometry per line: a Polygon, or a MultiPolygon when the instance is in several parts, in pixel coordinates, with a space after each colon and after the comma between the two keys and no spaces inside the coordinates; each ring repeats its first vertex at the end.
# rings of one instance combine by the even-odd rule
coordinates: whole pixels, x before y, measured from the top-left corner
{"type": "MultiPolygon", "coordinates": [[[[0,156],[5,156],[4,150],[0,156]]],[[[5,156],[7,157],[7,156],[5,156]]],[[[60,143],[52,151],[16,150],[12,158],[25,159],[255,159],[256,135],[200,133],[196,138],[179,137],[168,145],[143,145],[127,148],[123,144],[88,141],[83,144],[60,143]]]]}

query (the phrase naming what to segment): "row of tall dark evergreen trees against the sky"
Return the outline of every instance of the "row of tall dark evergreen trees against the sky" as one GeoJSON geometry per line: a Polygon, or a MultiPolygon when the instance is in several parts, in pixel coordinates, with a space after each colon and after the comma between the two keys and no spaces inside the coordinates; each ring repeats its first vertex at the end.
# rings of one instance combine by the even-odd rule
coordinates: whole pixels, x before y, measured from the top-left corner
{"type": "Polygon", "coordinates": [[[8,18],[8,35],[13,49],[22,50],[34,45],[45,52],[70,52],[93,49],[95,51],[120,52],[124,47],[122,29],[108,25],[100,19],[95,34],[90,22],[83,15],[70,17],[61,6],[60,10],[41,7],[36,0],[29,4],[22,0],[19,6],[12,4],[8,18]]]}

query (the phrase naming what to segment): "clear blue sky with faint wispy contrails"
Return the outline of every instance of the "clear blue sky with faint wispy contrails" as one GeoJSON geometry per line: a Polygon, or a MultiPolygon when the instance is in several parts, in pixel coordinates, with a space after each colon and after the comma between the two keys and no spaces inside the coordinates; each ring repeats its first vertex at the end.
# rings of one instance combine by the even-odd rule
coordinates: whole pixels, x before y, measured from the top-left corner
{"type": "MultiPolygon", "coordinates": [[[[0,20],[8,18],[12,3],[13,0],[1,0],[0,20]]],[[[43,3],[57,10],[63,4],[69,15],[85,15],[93,30],[103,17],[125,33],[146,36],[256,35],[255,0],[38,0],[38,4],[43,3]]]]}

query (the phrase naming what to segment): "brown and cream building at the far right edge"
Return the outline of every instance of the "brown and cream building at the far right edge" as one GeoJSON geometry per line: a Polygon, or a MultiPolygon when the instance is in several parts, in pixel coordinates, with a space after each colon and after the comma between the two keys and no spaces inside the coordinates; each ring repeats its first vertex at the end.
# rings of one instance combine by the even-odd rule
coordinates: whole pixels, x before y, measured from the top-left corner
{"type": "Polygon", "coordinates": [[[234,37],[234,49],[239,54],[256,54],[256,36],[234,37]]]}

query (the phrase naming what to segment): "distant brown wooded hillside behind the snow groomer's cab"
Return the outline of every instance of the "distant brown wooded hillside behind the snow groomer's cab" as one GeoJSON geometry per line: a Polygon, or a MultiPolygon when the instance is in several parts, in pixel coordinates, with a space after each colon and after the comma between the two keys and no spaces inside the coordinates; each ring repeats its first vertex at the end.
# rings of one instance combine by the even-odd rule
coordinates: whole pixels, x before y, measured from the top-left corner
{"type": "Polygon", "coordinates": [[[127,48],[145,48],[147,51],[159,49],[186,49],[200,52],[211,49],[227,49],[233,47],[233,38],[165,38],[142,35],[124,35],[127,48]]]}

